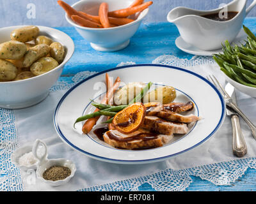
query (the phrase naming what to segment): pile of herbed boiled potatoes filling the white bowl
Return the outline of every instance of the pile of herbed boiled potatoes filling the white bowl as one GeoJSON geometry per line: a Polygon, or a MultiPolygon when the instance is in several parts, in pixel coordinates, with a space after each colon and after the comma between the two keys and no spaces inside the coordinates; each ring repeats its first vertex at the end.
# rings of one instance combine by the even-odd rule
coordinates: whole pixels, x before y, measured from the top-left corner
{"type": "Polygon", "coordinates": [[[0,44],[0,82],[24,80],[51,71],[63,62],[65,48],[47,36],[38,36],[34,25],[11,33],[11,41],[0,44]]]}

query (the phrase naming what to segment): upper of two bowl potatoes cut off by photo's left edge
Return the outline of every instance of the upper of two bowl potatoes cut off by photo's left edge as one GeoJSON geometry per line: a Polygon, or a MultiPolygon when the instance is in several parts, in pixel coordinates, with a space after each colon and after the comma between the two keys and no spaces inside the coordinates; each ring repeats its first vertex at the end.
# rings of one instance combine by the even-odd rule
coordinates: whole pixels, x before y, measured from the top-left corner
{"type": "Polygon", "coordinates": [[[20,59],[26,53],[27,48],[19,41],[7,41],[0,44],[0,59],[20,59]]]}

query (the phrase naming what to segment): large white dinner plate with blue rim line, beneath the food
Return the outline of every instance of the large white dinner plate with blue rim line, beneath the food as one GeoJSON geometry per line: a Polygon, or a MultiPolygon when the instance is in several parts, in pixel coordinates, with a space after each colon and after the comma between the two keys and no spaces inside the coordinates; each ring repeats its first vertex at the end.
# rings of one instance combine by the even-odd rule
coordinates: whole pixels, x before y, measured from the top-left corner
{"type": "MultiPolygon", "coordinates": [[[[140,64],[102,71],[72,87],[56,107],[54,126],[61,140],[82,154],[111,163],[134,164],[162,161],[197,147],[220,128],[224,118],[225,102],[220,92],[204,77],[182,68],[140,64]],[[106,92],[106,87],[101,90],[93,90],[93,87],[97,88],[104,84],[106,72],[114,79],[120,77],[125,84],[154,82],[175,87],[175,101],[193,101],[195,108],[189,113],[199,115],[202,119],[189,126],[188,134],[176,135],[170,143],[155,149],[116,149],[99,140],[93,131],[84,135],[81,131],[83,122],[77,123],[76,129],[73,128],[73,124],[84,113],[95,110],[90,104],[90,99],[99,101],[99,96],[106,92]]],[[[99,120],[96,128],[100,126],[102,123],[99,120]]]]}

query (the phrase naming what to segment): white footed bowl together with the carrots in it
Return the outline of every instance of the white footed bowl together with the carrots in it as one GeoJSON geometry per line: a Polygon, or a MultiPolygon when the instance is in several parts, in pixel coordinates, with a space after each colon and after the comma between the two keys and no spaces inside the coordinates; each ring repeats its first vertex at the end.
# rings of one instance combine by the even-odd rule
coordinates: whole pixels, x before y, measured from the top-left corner
{"type": "Polygon", "coordinates": [[[152,1],[82,0],[72,6],[63,1],[58,4],[66,11],[68,23],[90,41],[93,49],[113,52],[129,45],[152,1]]]}

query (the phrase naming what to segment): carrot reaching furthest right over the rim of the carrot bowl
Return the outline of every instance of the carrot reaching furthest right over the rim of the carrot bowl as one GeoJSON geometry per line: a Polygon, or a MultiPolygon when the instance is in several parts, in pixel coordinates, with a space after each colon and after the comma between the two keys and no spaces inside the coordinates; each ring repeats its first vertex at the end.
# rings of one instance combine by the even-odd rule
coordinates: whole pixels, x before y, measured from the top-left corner
{"type": "Polygon", "coordinates": [[[108,12],[108,16],[109,17],[128,17],[129,15],[145,10],[152,3],[153,3],[152,1],[148,1],[138,6],[133,6],[132,8],[125,8],[121,10],[110,11],[108,12]]]}

